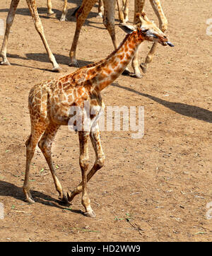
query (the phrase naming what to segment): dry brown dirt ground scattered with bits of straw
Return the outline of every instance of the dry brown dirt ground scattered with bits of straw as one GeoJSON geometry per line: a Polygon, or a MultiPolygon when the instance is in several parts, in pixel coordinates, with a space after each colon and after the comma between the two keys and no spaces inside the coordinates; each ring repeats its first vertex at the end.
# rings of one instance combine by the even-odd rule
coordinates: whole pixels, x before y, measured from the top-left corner
{"type": "MultiPolygon", "coordinates": [[[[51,72],[28,6],[20,1],[8,42],[11,66],[0,66],[0,202],[4,205],[0,241],[212,240],[212,37],[206,34],[212,5],[209,0],[161,2],[168,20],[167,35],[175,47],[159,45],[143,78],[119,76],[102,91],[106,106],[144,106],[145,128],[141,139],[133,139],[132,131],[101,132],[106,161],[88,183],[96,214],[90,219],[83,215],[80,196],[70,206],[59,202],[38,148],[30,173],[35,204],[24,201],[28,93],[35,83],[76,70],[67,64],[76,25],[71,12],[78,1],[69,0],[69,21],[61,23],[63,1],[52,1],[55,14],[49,18],[46,1],[37,0],[45,35],[63,69],[60,74],[51,72]]],[[[4,23],[9,5],[10,0],[0,3],[4,23]]],[[[113,50],[96,13],[97,6],[81,30],[77,49],[81,66],[113,50]]],[[[146,13],[157,23],[149,1],[146,13]]],[[[116,11],[116,24],[117,15],[116,11]]],[[[131,0],[130,21],[133,16],[131,0]]],[[[124,32],[118,26],[116,31],[122,42],[124,32]]],[[[151,43],[143,45],[140,62],[151,43]]],[[[91,144],[89,149],[91,167],[95,154],[91,144]]],[[[78,135],[61,127],[52,154],[64,190],[73,190],[81,181],[78,135]]]]}

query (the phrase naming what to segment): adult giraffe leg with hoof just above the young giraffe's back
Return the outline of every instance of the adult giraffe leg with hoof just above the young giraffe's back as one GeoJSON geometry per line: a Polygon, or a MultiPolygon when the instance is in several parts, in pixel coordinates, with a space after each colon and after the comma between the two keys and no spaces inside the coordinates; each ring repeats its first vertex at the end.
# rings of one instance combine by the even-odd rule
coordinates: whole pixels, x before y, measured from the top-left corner
{"type": "Polygon", "coordinates": [[[88,13],[90,13],[91,8],[95,4],[97,0],[83,0],[83,3],[81,4],[80,8],[78,8],[78,11],[76,12],[76,30],[73,37],[73,42],[71,45],[71,50],[69,52],[69,56],[71,58],[71,62],[69,63],[69,66],[76,66],[78,67],[78,62],[76,60],[76,47],[78,43],[78,37],[81,32],[81,28],[83,23],[86,21],[86,18],[88,17],[88,13]]]}

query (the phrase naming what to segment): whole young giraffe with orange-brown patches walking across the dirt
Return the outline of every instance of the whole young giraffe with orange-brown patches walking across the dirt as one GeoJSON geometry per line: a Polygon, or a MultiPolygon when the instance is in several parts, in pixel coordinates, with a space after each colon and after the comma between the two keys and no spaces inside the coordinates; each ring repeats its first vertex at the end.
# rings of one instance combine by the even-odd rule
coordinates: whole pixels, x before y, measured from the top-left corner
{"type": "MultiPolygon", "coordinates": [[[[34,203],[29,187],[30,163],[35,152],[35,146],[42,135],[38,146],[44,154],[51,170],[54,185],[59,192],[59,199],[64,202],[71,202],[76,194],[82,192],[81,202],[86,209],[84,214],[89,217],[95,217],[95,213],[90,206],[87,182],[97,170],[102,168],[105,161],[105,154],[102,151],[98,128],[98,118],[102,110],[104,110],[104,103],[102,102],[100,92],[122,74],[134,57],[139,45],[144,40],[159,42],[161,45],[173,46],[165,34],[148,20],[145,13],[138,14],[138,17],[139,22],[135,26],[120,25],[120,28],[128,33],[128,35],[126,35],[117,50],[114,50],[106,59],[84,66],[72,74],[59,79],[37,84],[31,89],[28,102],[31,134],[25,142],[26,168],[23,184],[23,192],[28,202],[34,203]],[[87,114],[90,114],[90,126],[87,125],[85,129],[88,118],[86,118],[83,108],[87,103],[89,103],[87,114]],[[52,163],[51,147],[59,127],[61,125],[68,125],[69,120],[76,115],[73,111],[70,111],[71,107],[78,107],[78,109],[82,110],[82,125],[75,126],[80,145],[79,165],[81,167],[82,181],[73,192],[68,192],[66,197],[52,163]],[[90,172],[87,173],[89,137],[95,151],[95,163],[90,172]]],[[[73,124],[76,124],[77,121],[76,118],[73,124]]]]}

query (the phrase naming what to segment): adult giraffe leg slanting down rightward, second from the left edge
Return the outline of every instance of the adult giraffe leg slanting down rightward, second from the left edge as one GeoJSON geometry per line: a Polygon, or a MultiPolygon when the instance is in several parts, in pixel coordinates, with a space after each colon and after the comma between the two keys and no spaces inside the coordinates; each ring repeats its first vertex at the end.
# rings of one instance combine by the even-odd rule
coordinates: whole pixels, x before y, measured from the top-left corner
{"type": "Polygon", "coordinates": [[[35,24],[35,28],[36,28],[38,34],[40,35],[40,37],[42,39],[42,42],[45,46],[45,49],[47,50],[49,60],[50,60],[50,62],[52,62],[52,65],[53,65],[52,70],[53,71],[60,71],[61,67],[59,66],[59,64],[57,64],[56,59],[54,58],[54,55],[52,54],[52,51],[50,50],[50,47],[49,47],[48,42],[46,40],[45,33],[44,33],[44,30],[43,30],[43,27],[42,27],[42,22],[40,21],[40,17],[37,13],[37,6],[35,4],[35,0],[26,0],[26,1],[28,3],[28,7],[30,9],[30,13],[32,15],[32,18],[33,18],[33,21],[34,21],[34,24],[35,24]]]}

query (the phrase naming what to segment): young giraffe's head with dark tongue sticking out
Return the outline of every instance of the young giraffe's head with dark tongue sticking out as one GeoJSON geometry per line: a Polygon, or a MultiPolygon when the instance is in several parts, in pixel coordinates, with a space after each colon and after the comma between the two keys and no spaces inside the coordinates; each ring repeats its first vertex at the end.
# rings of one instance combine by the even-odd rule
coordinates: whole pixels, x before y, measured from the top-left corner
{"type": "Polygon", "coordinates": [[[161,45],[169,45],[173,47],[172,43],[168,40],[166,35],[160,30],[160,28],[155,25],[153,21],[150,21],[145,13],[136,14],[136,25],[119,25],[122,30],[126,33],[132,33],[137,31],[139,37],[142,40],[147,40],[151,42],[159,42],[161,45]]]}

